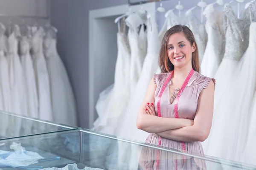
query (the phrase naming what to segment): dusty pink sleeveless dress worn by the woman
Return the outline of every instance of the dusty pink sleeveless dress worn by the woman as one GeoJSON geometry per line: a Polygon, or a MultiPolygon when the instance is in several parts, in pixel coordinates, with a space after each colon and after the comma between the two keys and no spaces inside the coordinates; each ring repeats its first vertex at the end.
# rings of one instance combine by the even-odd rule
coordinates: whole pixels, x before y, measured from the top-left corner
{"type": "MultiPolygon", "coordinates": [[[[214,79],[210,79],[199,74],[196,71],[191,71],[186,78],[187,84],[184,82],[183,90],[178,100],[178,118],[194,119],[197,111],[198,97],[200,92],[207,88],[210,81],[215,83],[214,79]],[[189,108],[187,107],[189,105],[189,108]]],[[[157,88],[154,95],[154,107],[156,114],[165,118],[177,118],[175,115],[175,102],[170,104],[169,86],[172,82],[171,73],[154,74],[154,83],[157,88]],[[160,96],[161,95],[161,96],[160,96]],[[159,97],[160,96],[160,97],[159,97]],[[161,99],[161,100],[160,100],[161,99]],[[160,103],[159,103],[160,101],[160,103]],[[160,107],[160,113],[158,113],[160,107]]],[[[175,99],[177,102],[177,98],[175,99]]],[[[146,139],[148,144],[156,144],[167,148],[177,150],[186,150],[184,152],[196,155],[204,155],[201,142],[178,142],[166,138],[162,138],[154,133],[150,133],[146,139]],[[184,144],[184,145],[183,145],[184,144]]],[[[143,147],[140,157],[140,166],[156,167],[160,170],[167,169],[206,169],[204,160],[194,159],[191,157],[185,158],[179,154],[160,152],[157,154],[152,148],[143,147]],[[185,162],[184,162],[185,161],[185,162]]]]}

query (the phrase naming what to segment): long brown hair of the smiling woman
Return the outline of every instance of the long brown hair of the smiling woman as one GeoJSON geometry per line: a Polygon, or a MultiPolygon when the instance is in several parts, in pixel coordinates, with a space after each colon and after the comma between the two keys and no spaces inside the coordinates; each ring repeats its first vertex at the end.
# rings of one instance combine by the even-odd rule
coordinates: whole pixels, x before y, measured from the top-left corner
{"type": "MultiPolygon", "coordinates": [[[[187,26],[176,25],[166,31],[161,42],[161,48],[159,53],[159,65],[162,73],[167,73],[174,70],[174,65],[170,61],[167,54],[167,41],[169,40],[169,37],[175,33],[183,33],[186,39],[190,42],[191,46],[193,45],[193,42],[195,42],[194,34],[187,26]]],[[[198,46],[196,42],[195,51],[192,53],[192,68],[198,73],[200,72],[198,46]]]]}

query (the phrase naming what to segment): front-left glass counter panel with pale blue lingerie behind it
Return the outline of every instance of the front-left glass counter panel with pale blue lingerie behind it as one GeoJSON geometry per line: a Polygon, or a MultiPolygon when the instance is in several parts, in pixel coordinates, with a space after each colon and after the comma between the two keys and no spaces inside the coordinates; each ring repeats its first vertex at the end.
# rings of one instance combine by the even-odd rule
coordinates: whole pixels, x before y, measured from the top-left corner
{"type": "Polygon", "coordinates": [[[79,163],[79,139],[79,130],[69,130],[1,140],[0,168],[7,166],[37,170],[44,167],[64,167],[67,164],[79,163]],[[14,149],[17,151],[15,152],[14,149]],[[11,161],[5,157],[6,151],[11,151],[8,154],[12,156],[11,161]],[[5,154],[1,155],[1,153],[5,154]]]}

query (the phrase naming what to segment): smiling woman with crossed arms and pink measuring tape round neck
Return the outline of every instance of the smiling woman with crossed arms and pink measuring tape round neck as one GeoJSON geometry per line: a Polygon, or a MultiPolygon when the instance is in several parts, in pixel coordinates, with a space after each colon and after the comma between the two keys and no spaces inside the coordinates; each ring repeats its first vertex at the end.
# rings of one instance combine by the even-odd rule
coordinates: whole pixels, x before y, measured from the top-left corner
{"type": "MultiPolygon", "coordinates": [[[[166,32],[159,62],[162,73],[154,74],[149,84],[137,116],[137,128],[151,133],[147,143],[203,155],[200,142],[207,139],[212,124],[215,79],[199,73],[198,49],[188,27],[176,25],[166,32]]],[[[204,161],[157,152],[160,151],[143,148],[140,166],[205,168],[204,161]]]]}

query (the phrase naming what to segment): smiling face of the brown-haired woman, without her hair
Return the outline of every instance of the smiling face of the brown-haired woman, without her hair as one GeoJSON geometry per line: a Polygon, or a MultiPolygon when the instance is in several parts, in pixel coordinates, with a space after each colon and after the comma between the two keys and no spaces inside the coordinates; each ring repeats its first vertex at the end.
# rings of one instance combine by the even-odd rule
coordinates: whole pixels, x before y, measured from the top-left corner
{"type": "Polygon", "coordinates": [[[190,42],[182,33],[172,34],[167,41],[167,54],[175,68],[183,68],[192,65],[192,52],[195,51],[195,43],[190,42]]]}

